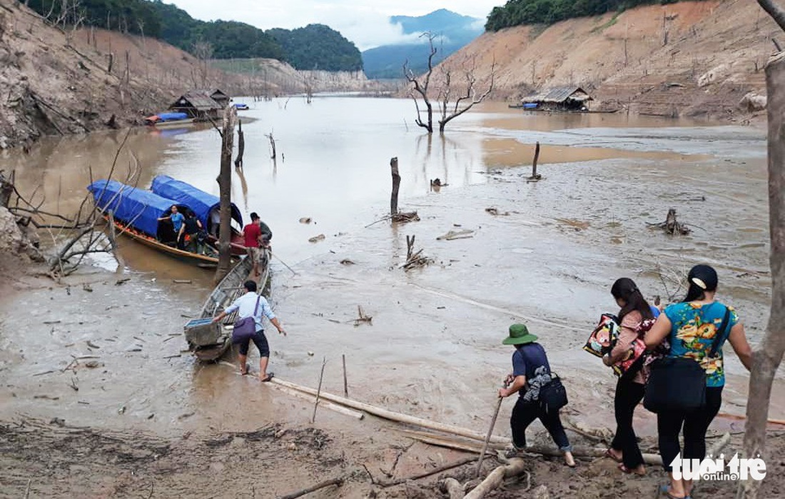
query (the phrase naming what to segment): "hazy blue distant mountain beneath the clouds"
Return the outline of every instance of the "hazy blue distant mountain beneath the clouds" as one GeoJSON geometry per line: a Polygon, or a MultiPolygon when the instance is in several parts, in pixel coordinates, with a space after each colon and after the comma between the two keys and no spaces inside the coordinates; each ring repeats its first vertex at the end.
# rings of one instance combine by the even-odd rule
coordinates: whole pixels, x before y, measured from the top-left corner
{"type": "Polygon", "coordinates": [[[428,68],[428,38],[417,35],[426,32],[437,35],[433,41],[438,50],[433,63],[437,64],[484,31],[483,20],[462,16],[447,9],[435,10],[421,17],[392,16],[390,24],[400,24],[403,35],[409,35],[412,41],[365,50],[363,68],[368,78],[401,78],[403,63],[406,61],[415,73],[424,72],[428,68]]]}

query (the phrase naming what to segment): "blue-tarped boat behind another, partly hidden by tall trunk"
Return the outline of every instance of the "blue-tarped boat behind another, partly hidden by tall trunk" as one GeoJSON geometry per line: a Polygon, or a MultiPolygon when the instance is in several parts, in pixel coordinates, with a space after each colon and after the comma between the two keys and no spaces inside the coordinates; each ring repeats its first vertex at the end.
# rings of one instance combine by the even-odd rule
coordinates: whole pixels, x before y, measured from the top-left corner
{"type": "MultiPolygon", "coordinates": [[[[150,190],[166,199],[175,200],[182,204],[187,204],[194,211],[196,218],[202,223],[207,231],[207,241],[211,244],[217,243],[214,236],[215,227],[213,226],[213,216],[221,209],[221,200],[218,196],[206,193],[187,182],[171,178],[169,175],[158,175],[152,179],[150,190]]],[[[232,222],[232,255],[245,255],[245,240],[239,229],[243,228],[243,215],[234,203],[231,204],[232,222]]]]}

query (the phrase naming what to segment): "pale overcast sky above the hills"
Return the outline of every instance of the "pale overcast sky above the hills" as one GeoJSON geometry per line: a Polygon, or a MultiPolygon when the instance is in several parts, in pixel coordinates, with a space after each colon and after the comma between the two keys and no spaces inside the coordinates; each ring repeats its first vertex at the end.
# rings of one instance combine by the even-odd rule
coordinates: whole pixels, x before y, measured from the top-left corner
{"type": "Polygon", "coordinates": [[[358,49],[400,42],[400,27],[389,24],[390,16],[423,16],[448,9],[463,16],[478,17],[485,24],[488,13],[506,0],[164,0],[201,20],[239,20],[257,28],[303,28],[327,24],[341,31],[358,49]]]}

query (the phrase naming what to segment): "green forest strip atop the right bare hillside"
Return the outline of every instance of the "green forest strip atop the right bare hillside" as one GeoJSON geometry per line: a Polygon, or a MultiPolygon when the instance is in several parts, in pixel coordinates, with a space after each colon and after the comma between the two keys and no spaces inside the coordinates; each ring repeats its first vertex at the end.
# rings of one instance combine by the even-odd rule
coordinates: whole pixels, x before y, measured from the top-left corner
{"type": "Polygon", "coordinates": [[[509,0],[494,7],[485,23],[486,31],[498,31],[520,24],[553,24],[572,17],[598,16],[655,3],[677,0],[509,0]]]}

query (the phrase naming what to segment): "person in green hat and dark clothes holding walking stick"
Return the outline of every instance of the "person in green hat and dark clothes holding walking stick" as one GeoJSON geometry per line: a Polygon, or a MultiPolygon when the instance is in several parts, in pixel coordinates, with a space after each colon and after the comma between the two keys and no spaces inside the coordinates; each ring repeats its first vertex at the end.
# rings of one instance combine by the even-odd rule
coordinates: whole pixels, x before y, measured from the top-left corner
{"type": "Polygon", "coordinates": [[[526,450],[526,428],[535,419],[542,422],[550,433],[553,442],[564,453],[564,463],[575,466],[572,457],[572,446],[564,432],[558,410],[547,410],[539,403],[539,387],[550,382],[550,364],[545,349],[537,342],[537,336],[531,334],[523,324],[509,326],[509,336],[502,341],[505,345],[513,345],[513,372],[506,378],[506,388],[499,388],[498,396],[509,397],[518,394],[513,408],[513,416],[509,420],[513,431],[513,453],[518,455],[526,450]]]}

